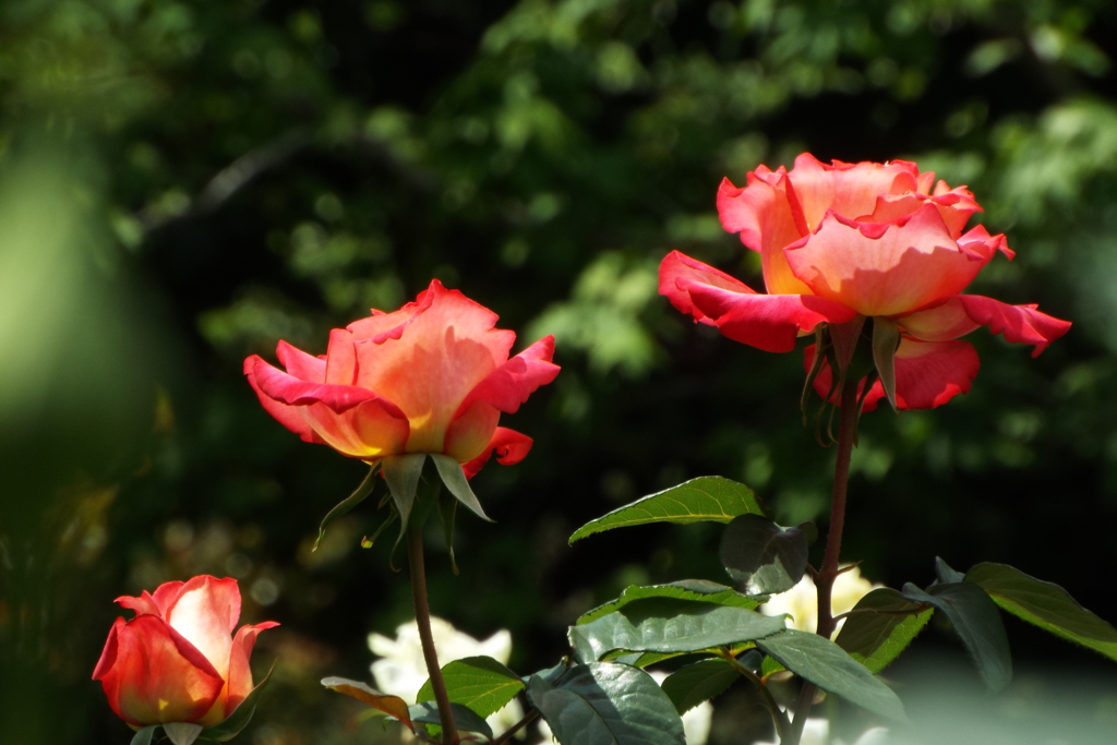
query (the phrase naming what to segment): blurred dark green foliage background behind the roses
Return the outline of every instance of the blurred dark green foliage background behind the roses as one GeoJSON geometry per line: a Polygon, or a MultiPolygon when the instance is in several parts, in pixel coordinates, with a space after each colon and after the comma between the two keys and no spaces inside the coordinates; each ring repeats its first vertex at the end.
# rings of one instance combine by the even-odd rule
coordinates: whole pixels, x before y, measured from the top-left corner
{"type": "MultiPolygon", "coordinates": [[[[843,556],[894,586],[1008,562],[1117,620],[1115,58],[1111,0],[3,0],[0,742],[127,742],[89,680],[112,600],[197,573],[283,623],[237,742],[395,736],[317,685],[366,678],[365,634],[410,618],[390,542],[359,546],[371,503],[311,552],[364,467],[271,420],[241,360],[322,353],[432,276],[521,348],[557,338],[562,374],[503,422],[535,449],[475,480],[498,523],[460,520],[460,576],[431,536],[435,613],[510,629],[518,671],[628,583],[726,580],[716,526],[567,547],[592,517],[720,474],[824,520],[801,357],[656,294],[672,248],[761,287],[714,194],[803,150],[970,184],[1019,252],[973,292],[1076,324],[1037,360],[977,332],[968,395],[867,416],[843,556]]],[[[1117,669],[1006,623],[1018,684],[958,701],[1113,732],[1117,669]]],[[[960,663],[968,691],[961,657],[933,628],[889,674],[915,696],[920,658],[960,663]]],[[[715,743],[758,716],[716,708],[715,743]]]]}

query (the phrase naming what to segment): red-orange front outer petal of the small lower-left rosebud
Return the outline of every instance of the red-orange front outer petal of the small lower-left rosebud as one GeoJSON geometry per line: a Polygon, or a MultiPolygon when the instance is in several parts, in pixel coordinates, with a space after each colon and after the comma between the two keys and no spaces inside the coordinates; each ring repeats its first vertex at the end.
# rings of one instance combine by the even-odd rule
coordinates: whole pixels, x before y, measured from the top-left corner
{"type": "Polygon", "coordinates": [[[134,727],[198,722],[225,681],[193,644],[155,615],[116,619],[94,671],[113,711],[134,727]]]}

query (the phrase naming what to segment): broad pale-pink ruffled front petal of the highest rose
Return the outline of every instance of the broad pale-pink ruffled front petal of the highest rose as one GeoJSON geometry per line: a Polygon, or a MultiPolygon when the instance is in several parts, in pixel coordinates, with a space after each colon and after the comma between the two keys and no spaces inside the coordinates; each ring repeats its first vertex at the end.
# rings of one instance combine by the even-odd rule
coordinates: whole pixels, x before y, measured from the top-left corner
{"type": "Polygon", "coordinates": [[[929,203],[901,223],[859,223],[830,212],[786,254],[817,295],[866,316],[901,315],[956,295],[989,260],[960,250],[929,203]]]}

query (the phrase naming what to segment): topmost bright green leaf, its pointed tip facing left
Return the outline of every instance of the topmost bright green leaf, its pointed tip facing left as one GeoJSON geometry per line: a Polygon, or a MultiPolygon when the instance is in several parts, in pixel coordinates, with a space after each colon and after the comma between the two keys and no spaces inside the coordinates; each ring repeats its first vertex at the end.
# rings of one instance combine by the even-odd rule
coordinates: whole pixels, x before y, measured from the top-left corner
{"type": "Polygon", "coordinates": [[[728,523],[738,515],[767,514],[767,507],[744,484],[720,476],[701,476],[590,520],[570,536],[570,542],[631,525],[728,523]]]}

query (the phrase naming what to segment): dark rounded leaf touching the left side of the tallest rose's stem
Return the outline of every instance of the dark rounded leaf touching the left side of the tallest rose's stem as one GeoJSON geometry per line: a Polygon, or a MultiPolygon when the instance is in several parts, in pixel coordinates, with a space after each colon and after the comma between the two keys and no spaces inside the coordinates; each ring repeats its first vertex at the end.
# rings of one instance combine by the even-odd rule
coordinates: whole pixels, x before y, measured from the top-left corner
{"type": "Polygon", "coordinates": [[[741,515],[722,534],[725,571],[750,595],[786,592],[806,571],[808,534],[761,515],[741,515]]]}

